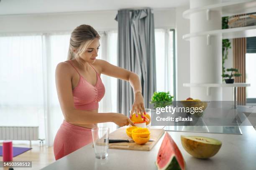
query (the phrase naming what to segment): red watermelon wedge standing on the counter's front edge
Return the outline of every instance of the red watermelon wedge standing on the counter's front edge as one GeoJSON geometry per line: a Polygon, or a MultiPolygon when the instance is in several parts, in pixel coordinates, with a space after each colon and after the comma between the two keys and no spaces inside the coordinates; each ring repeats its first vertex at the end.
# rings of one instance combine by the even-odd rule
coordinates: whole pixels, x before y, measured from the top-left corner
{"type": "Polygon", "coordinates": [[[183,156],[169,133],[165,133],[157,154],[156,165],[158,170],[185,170],[183,156]]]}

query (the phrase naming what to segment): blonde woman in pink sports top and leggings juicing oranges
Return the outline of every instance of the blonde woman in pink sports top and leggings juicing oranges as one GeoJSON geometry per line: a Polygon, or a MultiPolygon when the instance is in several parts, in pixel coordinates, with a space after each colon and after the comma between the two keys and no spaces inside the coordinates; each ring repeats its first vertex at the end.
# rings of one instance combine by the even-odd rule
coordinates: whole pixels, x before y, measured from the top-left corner
{"type": "Polygon", "coordinates": [[[134,125],[123,114],[98,113],[98,102],[105,93],[100,74],[129,81],[135,96],[131,112],[135,110],[142,117],[146,114],[138,75],[104,60],[96,60],[99,40],[100,35],[90,25],[75,28],[70,37],[68,59],[56,67],[56,88],[64,115],[54,139],[56,160],[91,143],[91,128],[97,127],[97,123],[134,125]]]}

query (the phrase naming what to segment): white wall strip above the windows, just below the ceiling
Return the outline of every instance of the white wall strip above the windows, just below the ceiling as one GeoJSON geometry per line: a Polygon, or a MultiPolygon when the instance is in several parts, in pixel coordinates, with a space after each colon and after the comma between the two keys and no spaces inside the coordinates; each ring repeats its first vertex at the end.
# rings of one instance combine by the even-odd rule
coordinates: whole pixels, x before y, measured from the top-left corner
{"type": "MultiPolygon", "coordinates": [[[[175,9],[153,10],[156,28],[175,28],[175,9]]],[[[51,13],[33,15],[0,15],[0,33],[72,31],[89,24],[96,30],[117,30],[117,11],[51,13]]]]}

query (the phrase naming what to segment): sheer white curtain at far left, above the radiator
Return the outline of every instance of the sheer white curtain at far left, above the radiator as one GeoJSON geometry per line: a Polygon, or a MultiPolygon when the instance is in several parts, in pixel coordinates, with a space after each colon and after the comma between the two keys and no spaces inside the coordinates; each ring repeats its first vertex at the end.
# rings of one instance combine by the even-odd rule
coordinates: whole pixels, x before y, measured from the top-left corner
{"type": "Polygon", "coordinates": [[[0,35],[0,126],[39,126],[45,138],[42,36],[0,35]]]}

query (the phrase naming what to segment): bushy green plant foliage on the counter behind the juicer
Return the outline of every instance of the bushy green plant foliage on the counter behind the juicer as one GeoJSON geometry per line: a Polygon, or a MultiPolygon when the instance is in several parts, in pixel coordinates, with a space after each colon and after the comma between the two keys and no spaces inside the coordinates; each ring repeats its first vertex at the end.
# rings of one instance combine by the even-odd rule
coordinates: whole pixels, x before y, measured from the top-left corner
{"type": "Polygon", "coordinates": [[[154,104],[154,108],[165,107],[172,105],[173,96],[170,95],[170,92],[154,92],[154,95],[151,97],[151,103],[154,104]]]}

